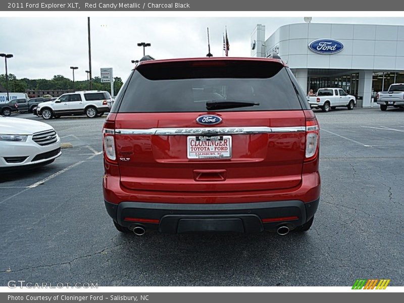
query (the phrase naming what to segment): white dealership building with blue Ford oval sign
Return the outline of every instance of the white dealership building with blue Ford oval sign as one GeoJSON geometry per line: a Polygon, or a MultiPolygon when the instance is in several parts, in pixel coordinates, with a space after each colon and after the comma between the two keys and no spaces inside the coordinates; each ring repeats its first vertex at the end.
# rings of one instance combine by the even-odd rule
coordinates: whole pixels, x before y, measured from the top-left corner
{"type": "Polygon", "coordinates": [[[251,56],[277,53],[306,92],[341,87],[357,96],[358,107],[371,107],[378,91],[404,83],[404,26],[298,23],[265,35],[258,24],[251,56]]]}

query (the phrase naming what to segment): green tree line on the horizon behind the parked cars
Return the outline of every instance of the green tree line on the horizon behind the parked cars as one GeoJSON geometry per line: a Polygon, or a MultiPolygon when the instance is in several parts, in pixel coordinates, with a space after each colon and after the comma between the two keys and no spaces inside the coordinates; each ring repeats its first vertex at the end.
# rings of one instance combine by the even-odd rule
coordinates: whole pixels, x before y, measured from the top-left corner
{"type": "MultiPolygon", "coordinates": [[[[0,75],[0,83],[6,88],[6,75],[0,75]]],[[[115,95],[123,85],[120,77],[114,77],[114,92],[115,95]]],[[[28,79],[17,77],[13,74],[9,74],[9,91],[10,92],[25,92],[26,89],[31,90],[57,90],[57,89],[73,89],[73,81],[62,75],[55,75],[51,80],[48,79],[28,79]]],[[[75,90],[88,89],[88,81],[74,81],[75,90]]],[[[93,90],[111,90],[110,83],[101,83],[100,77],[94,77],[92,79],[93,90]]]]}

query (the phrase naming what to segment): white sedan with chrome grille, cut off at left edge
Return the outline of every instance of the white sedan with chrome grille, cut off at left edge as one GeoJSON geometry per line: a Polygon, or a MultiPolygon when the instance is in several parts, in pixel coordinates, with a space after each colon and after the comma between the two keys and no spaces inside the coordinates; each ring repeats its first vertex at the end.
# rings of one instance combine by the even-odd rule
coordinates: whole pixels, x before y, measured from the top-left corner
{"type": "Polygon", "coordinates": [[[60,155],[60,138],[52,126],[0,116],[0,170],[47,165],[60,155]]]}

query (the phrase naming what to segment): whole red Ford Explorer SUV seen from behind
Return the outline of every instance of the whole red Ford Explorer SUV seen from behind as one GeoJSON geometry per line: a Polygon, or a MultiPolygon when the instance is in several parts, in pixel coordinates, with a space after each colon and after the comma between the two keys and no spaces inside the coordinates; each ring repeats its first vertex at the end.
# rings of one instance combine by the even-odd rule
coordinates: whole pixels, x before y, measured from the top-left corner
{"type": "Polygon", "coordinates": [[[280,59],[143,57],[104,125],[104,199],[121,232],[307,231],[319,125],[280,59]]]}

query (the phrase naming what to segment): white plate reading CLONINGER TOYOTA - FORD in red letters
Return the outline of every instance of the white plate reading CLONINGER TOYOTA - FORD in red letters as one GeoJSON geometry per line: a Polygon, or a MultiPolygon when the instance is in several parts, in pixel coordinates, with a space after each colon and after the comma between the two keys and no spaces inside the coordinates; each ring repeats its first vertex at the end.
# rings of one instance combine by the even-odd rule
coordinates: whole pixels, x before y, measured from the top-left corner
{"type": "Polygon", "coordinates": [[[189,136],[188,159],[231,158],[231,136],[189,136]]]}

